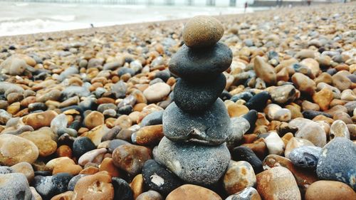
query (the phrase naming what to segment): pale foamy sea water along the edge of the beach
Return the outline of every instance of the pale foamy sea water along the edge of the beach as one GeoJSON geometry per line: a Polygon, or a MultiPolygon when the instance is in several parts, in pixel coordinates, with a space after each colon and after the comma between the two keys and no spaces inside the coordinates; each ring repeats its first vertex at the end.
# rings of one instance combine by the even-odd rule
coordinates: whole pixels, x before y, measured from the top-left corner
{"type": "MultiPolygon", "coordinates": [[[[91,2],[91,3],[90,3],[91,2]]],[[[127,23],[186,19],[196,15],[241,14],[268,8],[0,1],[0,36],[73,30],[127,23]]]]}

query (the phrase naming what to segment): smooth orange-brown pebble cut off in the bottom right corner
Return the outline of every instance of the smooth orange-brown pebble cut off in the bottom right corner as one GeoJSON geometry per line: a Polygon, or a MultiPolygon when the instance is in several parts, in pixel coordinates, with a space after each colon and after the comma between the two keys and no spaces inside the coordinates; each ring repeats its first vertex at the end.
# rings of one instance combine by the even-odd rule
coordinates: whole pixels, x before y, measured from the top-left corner
{"type": "Polygon", "coordinates": [[[356,199],[356,193],[350,186],[339,181],[315,181],[306,193],[305,200],[347,200],[356,199]]]}

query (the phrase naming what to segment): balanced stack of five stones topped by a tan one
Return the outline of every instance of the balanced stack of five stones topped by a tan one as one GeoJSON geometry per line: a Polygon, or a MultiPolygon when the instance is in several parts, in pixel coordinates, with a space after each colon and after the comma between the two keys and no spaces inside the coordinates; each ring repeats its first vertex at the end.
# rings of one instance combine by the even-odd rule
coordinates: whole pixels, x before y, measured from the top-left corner
{"type": "Polygon", "coordinates": [[[165,137],[153,154],[157,162],[191,184],[214,184],[230,161],[226,140],[231,120],[219,96],[232,52],[218,42],[223,33],[216,19],[194,17],[184,27],[184,45],[169,62],[171,73],[180,78],[174,102],[163,113],[165,137]]]}

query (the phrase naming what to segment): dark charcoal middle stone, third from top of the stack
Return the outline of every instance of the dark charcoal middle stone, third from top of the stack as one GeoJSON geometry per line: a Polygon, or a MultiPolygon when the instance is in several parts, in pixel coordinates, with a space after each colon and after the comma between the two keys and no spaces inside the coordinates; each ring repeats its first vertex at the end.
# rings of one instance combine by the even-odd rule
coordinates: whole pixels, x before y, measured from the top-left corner
{"type": "Polygon", "coordinates": [[[224,74],[214,80],[190,82],[180,78],[174,86],[174,102],[186,112],[201,112],[214,104],[226,85],[224,74]]]}

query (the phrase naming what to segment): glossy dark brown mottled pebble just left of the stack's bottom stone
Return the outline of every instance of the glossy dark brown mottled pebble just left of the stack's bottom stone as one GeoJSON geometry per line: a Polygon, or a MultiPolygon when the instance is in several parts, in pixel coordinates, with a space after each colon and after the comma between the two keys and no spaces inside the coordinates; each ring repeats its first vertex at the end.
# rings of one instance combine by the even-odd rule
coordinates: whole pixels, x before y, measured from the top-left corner
{"type": "Polygon", "coordinates": [[[151,155],[152,152],[147,147],[124,144],[112,152],[112,160],[119,169],[129,174],[137,175],[140,174],[145,162],[151,159],[151,155]],[[127,160],[130,160],[130,162],[127,162],[127,160]]]}

